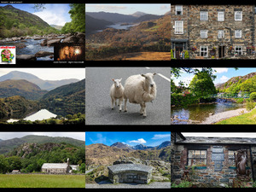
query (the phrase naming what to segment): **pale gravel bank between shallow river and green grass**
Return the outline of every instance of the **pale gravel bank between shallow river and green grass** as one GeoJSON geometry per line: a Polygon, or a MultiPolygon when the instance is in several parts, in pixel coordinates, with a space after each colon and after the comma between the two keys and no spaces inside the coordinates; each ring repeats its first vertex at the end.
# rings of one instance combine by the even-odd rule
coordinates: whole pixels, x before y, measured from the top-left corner
{"type": "Polygon", "coordinates": [[[236,110],[225,111],[222,113],[217,113],[217,114],[211,115],[205,121],[203,121],[201,124],[214,124],[220,120],[230,119],[231,117],[236,117],[238,115],[241,115],[241,111],[244,111],[244,113],[248,113],[246,108],[239,108],[236,110]]]}

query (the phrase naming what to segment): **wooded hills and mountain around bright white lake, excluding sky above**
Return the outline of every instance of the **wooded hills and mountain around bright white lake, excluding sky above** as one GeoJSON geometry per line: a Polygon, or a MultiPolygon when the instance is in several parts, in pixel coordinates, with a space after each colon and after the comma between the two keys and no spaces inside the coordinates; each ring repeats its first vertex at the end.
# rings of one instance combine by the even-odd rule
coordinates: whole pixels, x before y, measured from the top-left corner
{"type": "Polygon", "coordinates": [[[85,79],[43,80],[18,71],[0,77],[3,124],[84,124],[84,100],[85,79]]]}

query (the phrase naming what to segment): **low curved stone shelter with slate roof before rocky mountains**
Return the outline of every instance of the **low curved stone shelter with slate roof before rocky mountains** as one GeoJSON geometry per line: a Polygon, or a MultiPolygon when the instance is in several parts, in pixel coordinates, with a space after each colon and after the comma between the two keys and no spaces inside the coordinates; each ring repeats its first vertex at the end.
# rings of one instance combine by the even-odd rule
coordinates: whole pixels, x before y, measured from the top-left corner
{"type": "Polygon", "coordinates": [[[143,183],[150,182],[153,168],[140,164],[118,164],[108,166],[108,178],[113,183],[143,183]]]}

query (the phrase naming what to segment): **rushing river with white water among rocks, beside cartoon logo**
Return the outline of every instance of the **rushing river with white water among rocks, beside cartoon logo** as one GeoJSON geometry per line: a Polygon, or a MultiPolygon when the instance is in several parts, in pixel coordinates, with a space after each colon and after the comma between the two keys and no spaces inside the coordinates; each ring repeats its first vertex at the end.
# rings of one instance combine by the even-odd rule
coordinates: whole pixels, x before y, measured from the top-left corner
{"type": "MultiPolygon", "coordinates": [[[[15,41],[15,42],[0,43],[0,45],[14,45],[14,46],[16,46],[17,44],[26,44],[25,48],[21,48],[21,49],[16,48],[16,54],[17,55],[35,55],[40,50],[54,53],[54,47],[53,46],[48,47],[48,46],[41,46],[40,45],[43,40],[44,39],[41,39],[41,40],[26,39],[26,42],[20,42],[20,40],[19,40],[19,41],[15,41]]],[[[54,61],[54,58],[49,58],[49,56],[37,57],[37,61],[54,61]]]]}

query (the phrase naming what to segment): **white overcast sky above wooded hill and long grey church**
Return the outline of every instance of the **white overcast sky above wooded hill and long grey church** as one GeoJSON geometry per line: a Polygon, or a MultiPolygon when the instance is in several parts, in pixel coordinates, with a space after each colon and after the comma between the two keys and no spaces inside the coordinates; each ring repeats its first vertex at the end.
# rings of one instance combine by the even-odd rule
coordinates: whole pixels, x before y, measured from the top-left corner
{"type": "Polygon", "coordinates": [[[7,140],[15,137],[25,137],[28,135],[49,136],[49,137],[71,137],[85,141],[84,132],[0,132],[0,139],[7,140]]]}

